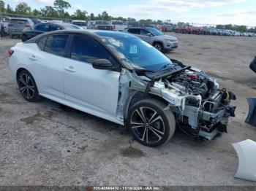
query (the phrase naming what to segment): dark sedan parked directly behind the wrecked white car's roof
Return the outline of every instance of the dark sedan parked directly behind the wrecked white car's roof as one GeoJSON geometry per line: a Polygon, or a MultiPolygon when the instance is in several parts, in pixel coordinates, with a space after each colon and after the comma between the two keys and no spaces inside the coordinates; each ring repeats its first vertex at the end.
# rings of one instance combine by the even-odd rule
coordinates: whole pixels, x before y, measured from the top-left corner
{"type": "Polygon", "coordinates": [[[26,28],[21,34],[22,42],[33,38],[39,34],[43,34],[49,31],[58,31],[64,29],[78,29],[81,30],[80,26],[75,26],[69,23],[40,23],[30,28],[26,28]]]}

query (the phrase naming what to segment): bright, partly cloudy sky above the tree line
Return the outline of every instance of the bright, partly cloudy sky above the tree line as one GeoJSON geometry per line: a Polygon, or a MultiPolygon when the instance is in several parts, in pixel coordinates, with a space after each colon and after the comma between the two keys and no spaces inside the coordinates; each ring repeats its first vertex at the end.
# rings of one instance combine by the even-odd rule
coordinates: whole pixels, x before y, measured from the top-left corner
{"type": "MultiPolygon", "coordinates": [[[[53,5],[53,0],[23,0],[32,9],[53,5]]],[[[68,0],[69,13],[85,9],[94,14],[171,20],[176,23],[238,24],[256,26],[256,0],[68,0]]],[[[4,0],[15,7],[20,0],[4,0]]]]}

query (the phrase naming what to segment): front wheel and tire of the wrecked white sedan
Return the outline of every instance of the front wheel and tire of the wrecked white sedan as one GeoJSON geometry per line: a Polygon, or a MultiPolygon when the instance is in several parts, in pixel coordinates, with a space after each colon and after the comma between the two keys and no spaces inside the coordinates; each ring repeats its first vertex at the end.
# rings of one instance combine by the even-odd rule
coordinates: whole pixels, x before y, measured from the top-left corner
{"type": "Polygon", "coordinates": [[[127,127],[140,144],[158,147],[165,144],[176,130],[176,120],[166,104],[155,99],[138,101],[129,109],[127,127]]]}

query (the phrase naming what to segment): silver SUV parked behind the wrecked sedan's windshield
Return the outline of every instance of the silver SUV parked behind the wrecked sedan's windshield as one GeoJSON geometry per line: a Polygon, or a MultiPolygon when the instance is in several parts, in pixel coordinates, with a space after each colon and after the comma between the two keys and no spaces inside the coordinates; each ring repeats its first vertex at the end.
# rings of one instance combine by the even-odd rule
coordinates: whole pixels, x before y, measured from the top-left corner
{"type": "Polygon", "coordinates": [[[138,36],[161,52],[174,50],[178,47],[178,39],[176,37],[162,34],[161,31],[153,27],[125,28],[124,32],[138,36]]]}

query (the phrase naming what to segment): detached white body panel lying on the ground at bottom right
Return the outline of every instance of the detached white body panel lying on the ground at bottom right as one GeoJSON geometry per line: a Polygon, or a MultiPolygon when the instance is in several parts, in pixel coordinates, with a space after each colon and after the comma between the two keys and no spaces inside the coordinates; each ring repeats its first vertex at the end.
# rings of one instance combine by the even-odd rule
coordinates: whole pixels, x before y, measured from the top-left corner
{"type": "Polygon", "coordinates": [[[236,178],[256,182],[256,142],[250,139],[232,144],[238,155],[236,178]]]}

